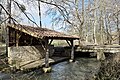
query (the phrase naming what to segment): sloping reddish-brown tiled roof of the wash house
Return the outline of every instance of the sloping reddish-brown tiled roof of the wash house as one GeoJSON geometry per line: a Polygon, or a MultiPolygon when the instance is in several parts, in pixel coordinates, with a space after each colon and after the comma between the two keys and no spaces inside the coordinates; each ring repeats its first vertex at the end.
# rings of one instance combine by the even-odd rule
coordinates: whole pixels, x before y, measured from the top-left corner
{"type": "Polygon", "coordinates": [[[78,36],[67,35],[47,28],[31,27],[26,25],[9,25],[9,27],[41,39],[42,38],[79,39],[78,36]]]}

